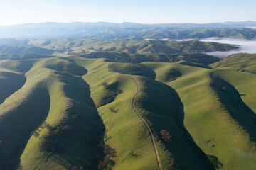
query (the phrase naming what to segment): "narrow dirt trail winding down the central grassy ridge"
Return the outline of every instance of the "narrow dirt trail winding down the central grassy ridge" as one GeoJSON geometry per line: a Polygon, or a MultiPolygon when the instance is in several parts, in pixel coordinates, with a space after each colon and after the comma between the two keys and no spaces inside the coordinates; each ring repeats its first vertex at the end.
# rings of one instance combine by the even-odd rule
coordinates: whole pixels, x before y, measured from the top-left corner
{"type": "MultiPolygon", "coordinates": [[[[112,69],[111,69],[110,67],[111,67],[111,64],[108,64],[108,68],[109,68],[110,72],[114,72],[114,71],[112,71],[112,69]]],[[[118,72],[114,72],[114,73],[121,74],[121,73],[118,73],[118,72]]],[[[122,74],[122,76],[124,76],[124,77],[129,77],[129,76],[124,75],[124,74],[122,74]]],[[[144,120],[144,118],[142,118],[141,115],[139,115],[139,113],[137,112],[137,109],[136,109],[136,107],[135,107],[135,98],[136,98],[137,94],[139,94],[139,86],[138,86],[138,84],[137,84],[137,81],[135,81],[134,78],[132,78],[132,77],[129,77],[129,78],[134,81],[134,83],[136,84],[136,88],[137,88],[136,94],[135,94],[134,97],[132,98],[132,108],[134,109],[134,112],[139,116],[139,118],[144,122],[144,124],[146,125],[146,129],[149,130],[149,135],[150,135],[150,138],[151,138],[151,142],[152,142],[152,145],[153,145],[153,147],[154,147],[154,151],[156,152],[157,164],[158,164],[158,166],[159,166],[159,170],[162,170],[161,160],[160,160],[160,157],[159,157],[158,149],[157,149],[157,147],[156,147],[156,142],[155,142],[155,140],[154,140],[154,135],[153,135],[153,133],[152,133],[150,127],[149,127],[149,124],[146,123],[146,120],[144,120]]]]}

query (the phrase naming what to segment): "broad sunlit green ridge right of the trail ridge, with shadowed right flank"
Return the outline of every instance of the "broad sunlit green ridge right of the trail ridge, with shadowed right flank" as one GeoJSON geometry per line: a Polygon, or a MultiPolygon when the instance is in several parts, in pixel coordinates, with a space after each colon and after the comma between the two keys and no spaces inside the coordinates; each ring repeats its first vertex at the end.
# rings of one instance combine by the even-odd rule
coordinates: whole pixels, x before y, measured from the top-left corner
{"type": "MultiPolygon", "coordinates": [[[[173,64],[169,65],[174,67],[173,64]]],[[[151,65],[151,68],[153,66],[151,65]]],[[[167,70],[155,67],[156,79],[161,77],[159,75],[163,72],[168,71],[169,67],[166,66],[167,70]]],[[[250,120],[253,118],[250,108],[245,106],[240,96],[235,90],[231,90],[230,86],[229,99],[218,94],[217,91],[221,92],[220,89],[227,84],[210,76],[212,75],[210,72],[214,70],[199,67],[196,69],[178,64],[175,64],[175,67],[182,76],[166,83],[176,89],[181,97],[185,112],[184,125],[196,144],[208,154],[215,168],[252,169],[255,166],[256,150],[252,130],[255,123],[250,120]],[[242,115],[230,109],[234,107],[234,102],[231,104],[228,101],[230,98],[235,100],[235,107],[239,108],[238,111],[243,113],[242,115]],[[245,124],[248,126],[246,127],[245,124]]]]}

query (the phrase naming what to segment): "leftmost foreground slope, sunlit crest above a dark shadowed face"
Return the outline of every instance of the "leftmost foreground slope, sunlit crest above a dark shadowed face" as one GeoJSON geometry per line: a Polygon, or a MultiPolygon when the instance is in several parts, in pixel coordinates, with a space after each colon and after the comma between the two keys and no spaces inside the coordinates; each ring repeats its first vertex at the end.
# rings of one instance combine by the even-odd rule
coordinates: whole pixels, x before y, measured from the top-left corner
{"type": "Polygon", "coordinates": [[[48,72],[26,73],[26,83],[21,89],[6,98],[1,104],[0,136],[1,167],[11,169],[18,163],[18,157],[30,133],[46,118],[49,108],[49,96],[43,87],[43,79],[48,72]],[[7,131],[8,130],[8,131],[7,131]]]}

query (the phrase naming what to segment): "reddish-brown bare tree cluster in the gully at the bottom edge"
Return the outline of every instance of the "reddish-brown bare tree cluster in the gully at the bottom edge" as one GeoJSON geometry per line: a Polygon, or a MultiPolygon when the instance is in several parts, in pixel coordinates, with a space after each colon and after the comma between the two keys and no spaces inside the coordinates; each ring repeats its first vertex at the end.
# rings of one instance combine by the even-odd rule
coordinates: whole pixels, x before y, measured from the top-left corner
{"type": "Polygon", "coordinates": [[[112,160],[113,157],[117,157],[117,152],[110,147],[110,145],[105,144],[105,142],[101,141],[99,146],[102,147],[105,157],[100,159],[98,164],[98,169],[111,169],[111,166],[114,166],[114,161],[112,160]]]}

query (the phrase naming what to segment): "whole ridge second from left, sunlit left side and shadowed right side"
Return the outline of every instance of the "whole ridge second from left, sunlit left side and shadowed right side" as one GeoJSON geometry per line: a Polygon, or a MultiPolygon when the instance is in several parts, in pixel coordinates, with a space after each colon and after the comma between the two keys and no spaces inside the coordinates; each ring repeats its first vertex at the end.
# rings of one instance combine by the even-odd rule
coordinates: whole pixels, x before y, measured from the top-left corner
{"type": "Polygon", "coordinates": [[[23,169],[96,169],[104,125],[80,75],[86,69],[66,60],[44,60],[50,110],[21,155],[23,169]],[[55,68],[55,69],[46,69],[55,68]]]}

